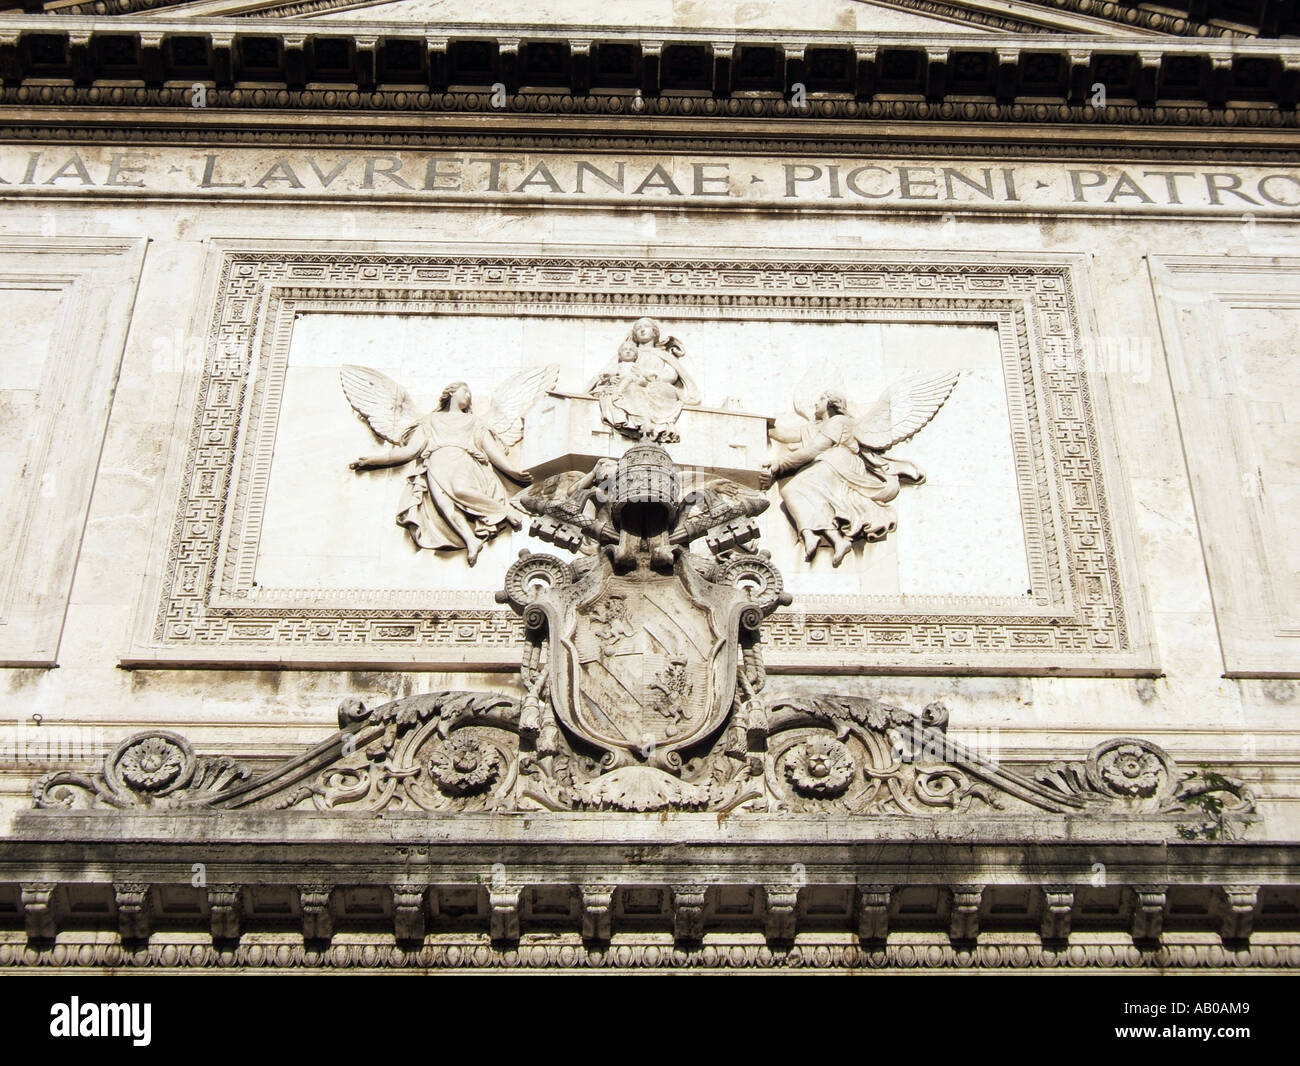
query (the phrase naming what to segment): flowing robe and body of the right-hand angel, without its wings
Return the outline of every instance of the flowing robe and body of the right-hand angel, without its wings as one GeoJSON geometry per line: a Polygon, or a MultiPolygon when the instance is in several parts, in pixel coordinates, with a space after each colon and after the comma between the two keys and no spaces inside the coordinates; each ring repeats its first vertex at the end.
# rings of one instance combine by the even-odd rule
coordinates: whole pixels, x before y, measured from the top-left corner
{"type": "Polygon", "coordinates": [[[798,530],[837,528],[849,540],[868,541],[893,533],[897,517],[889,500],[898,495],[898,477],[888,462],[874,467],[862,458],[853,420],[832,415],[806,422],[801,437],[803,448],[824,446],[827,439],[831,447],[781,485],[781,500],[798,530]]]}

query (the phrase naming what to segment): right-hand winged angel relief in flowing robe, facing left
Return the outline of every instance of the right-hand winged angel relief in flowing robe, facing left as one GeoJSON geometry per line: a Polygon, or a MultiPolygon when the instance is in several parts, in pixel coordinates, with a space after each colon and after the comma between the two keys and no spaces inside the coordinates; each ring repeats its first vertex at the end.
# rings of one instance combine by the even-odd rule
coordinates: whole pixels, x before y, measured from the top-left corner
{"type": "Polygon", "coordinates": [[[781,500],[809,562],[826,542],[831,564],[837,567],[855,540],[883,541],[894,532],[897,519],[889,503],[901,481],[919,485],[926,474],[885,452],[939,413],[957,378],[957,373],[905,378],[862,415],[849,408],[844,395],[828,391],[811,412],[796,402],[798,422],[777,420],[771,437],[784,447],[764,467],[764,488],[785,478],[781,500]]]}

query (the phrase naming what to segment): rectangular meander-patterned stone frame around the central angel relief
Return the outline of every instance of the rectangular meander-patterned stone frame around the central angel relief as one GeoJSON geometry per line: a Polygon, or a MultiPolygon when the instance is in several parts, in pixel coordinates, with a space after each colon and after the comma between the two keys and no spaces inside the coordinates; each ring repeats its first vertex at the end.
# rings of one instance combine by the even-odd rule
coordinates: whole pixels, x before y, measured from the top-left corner
{"type": "Polygon", "coordinates": [[[214,307],[179,503],[126,666],[511,670],[490,593],[257,589],[257,520],[294,316],[482,313],[996,326],[1032,594],[805,597],[767,627],[770,670],[1149,673],[1104,382],[1061,354],[1089,326],[1084,257],[753,250],[536,250],[335,242],[214,246],[214,307]],[[228,497],[229,493],[229,497],[228,497]]]}

